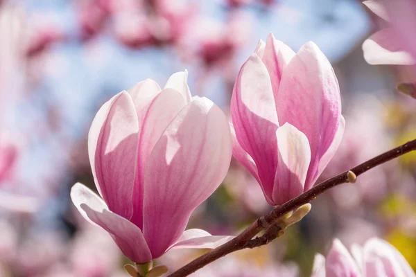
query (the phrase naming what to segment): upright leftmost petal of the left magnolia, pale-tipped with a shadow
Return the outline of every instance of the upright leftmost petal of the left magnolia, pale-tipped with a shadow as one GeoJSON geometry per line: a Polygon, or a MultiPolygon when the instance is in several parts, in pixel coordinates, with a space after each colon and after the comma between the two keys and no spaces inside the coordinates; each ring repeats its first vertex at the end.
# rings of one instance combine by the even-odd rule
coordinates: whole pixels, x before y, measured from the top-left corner
{"type": "Polygon", "coordinates": [[[110,211],[132,216],[138,123],[135,106],[122,91],[98,110],[88,134],[88,154],[98,192],[110,211]]]}

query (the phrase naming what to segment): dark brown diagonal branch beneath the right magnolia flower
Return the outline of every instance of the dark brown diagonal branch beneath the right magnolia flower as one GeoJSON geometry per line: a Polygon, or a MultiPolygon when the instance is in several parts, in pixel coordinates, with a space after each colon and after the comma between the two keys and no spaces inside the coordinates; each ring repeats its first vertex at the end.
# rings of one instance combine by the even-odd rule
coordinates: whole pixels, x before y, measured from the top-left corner
{"type": "Polygon", "coordinates": [[[275,238],[279,237],[279,227],[277,226],[277,222],[280,217],[286,215],[291,211],[299,208],[300,206],[311,202],[315,199],[318,195],[324,193],[325,191],[338,186],[340,184],[347,183],[349,181],[355,181],[355,177],[367,172],[368,170],[381,165],[387,161],[395,159],[403,154],[416,150],[416,139],[413,141],[409,141],[403,145],[400,145],[397,148],[394,148],[388,152],[385,152],[377,157],[374,157],[360,165],[352,168],[351,170],[347,170],[331,179],[327,179],[326,181],[322,181],[322,183],[314,186],[310,190],[302,193],[298,197],[295,197],[291,201],[286,202],[285,204],[273,209],[267,215],[263,215],[259,217],[255,222],[253,222],[247,229],[245,229],[242,233],[236,236],[236,238],[226,242],[225,244],[217,247],[216,249],[212,250],[209,253],[206,253],[199,258],[196,258],[189,264],[184,265],[177,271],[173,272],[173,274],[169,275],[168,277],[183,277],[192,274],[193,272],[205,267],[214,260],[218,260],[219,258],[226,256],[229,253],[245,249],[245,248],[254,248],[259,247],[264,244],[268,244],[268,242],[274,240],[275,238]],[[266,230],[266,233],[262,235],[260,238],[255,238],[252,240],[254,235],[257,235],[260,231],[266,230]]]}

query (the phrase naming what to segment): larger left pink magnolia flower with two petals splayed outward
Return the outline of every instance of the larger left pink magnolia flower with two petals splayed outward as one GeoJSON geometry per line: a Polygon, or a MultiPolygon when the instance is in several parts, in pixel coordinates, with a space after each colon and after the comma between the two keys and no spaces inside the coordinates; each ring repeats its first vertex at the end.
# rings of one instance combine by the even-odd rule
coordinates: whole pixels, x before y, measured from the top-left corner
{"type": "Polygon", "coordinates": [[[71,199],[130,260],[231,238],[184,231],[192,211],[225,178],[232,154],[225,114],[207,98],[191,98],[186,71],[173,74],[163,90],[144,80],[106,102],[89,130],[88,151],[103,200],[82,184],[73,186],[71,199]]]}

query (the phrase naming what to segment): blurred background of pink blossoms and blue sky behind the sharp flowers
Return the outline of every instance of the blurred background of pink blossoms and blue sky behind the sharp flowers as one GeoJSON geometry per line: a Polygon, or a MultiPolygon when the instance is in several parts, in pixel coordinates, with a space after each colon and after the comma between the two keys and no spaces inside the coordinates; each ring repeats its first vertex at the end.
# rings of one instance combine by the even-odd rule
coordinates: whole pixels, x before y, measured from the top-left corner
{"type": "MultiPolygon", "coordinates": [[[[272,32],[297,51],[312,40],[336,71],[347,127],[326,179],[416,136],[416,100],[395,90],[408,66],[373,66],[361,45],[381,24],[357,0],[0,0],[0,276],[128,276],[129,261],[69,199],[96,190],[87,132],[103,102],[145,78],[189,71],[193,95],[228,114],[240,66],[272,32]]],[[[309,276],[333,238],[388,240],[416,269],[416,154],[365,173],[313,202],[266,247],[194,276],[309,276]]],[[[236,234],[270,210],[232,161],[189,228],[236,234]]],[[[175,269],[204,251],[161,259],[175,269]]]]}

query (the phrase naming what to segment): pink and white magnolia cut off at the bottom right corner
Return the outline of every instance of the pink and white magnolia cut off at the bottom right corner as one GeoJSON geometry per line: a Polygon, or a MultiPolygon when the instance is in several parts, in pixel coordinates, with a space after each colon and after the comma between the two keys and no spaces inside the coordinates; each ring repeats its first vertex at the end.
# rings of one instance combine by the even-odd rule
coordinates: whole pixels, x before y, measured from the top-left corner
{"type": "Polygon", "coordinates": [[[340,240],[333,240],[325,260],[317,254],[312,277],[416,276],[406,259],[385,240],[371,238],[364,247],[353,245],[352,256],[340,240]],[[354,258],[353,258],[354,256],[354,258]]]}

